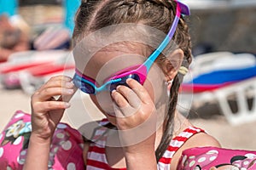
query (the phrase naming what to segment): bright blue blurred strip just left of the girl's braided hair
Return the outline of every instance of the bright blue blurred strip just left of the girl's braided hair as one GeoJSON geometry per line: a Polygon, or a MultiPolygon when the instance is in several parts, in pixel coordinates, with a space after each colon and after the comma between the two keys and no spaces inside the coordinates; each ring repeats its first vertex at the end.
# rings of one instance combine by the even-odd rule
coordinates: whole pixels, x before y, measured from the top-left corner
{"type": "Polygon", "coordinates": [[[74,28],[74,16],[79,8],[80,3],[80,0],[64,0],[63,2],[63,6],[65,7],[66,13],[64,25],[67,27],[71,34],[73,33],[74,28]]]}

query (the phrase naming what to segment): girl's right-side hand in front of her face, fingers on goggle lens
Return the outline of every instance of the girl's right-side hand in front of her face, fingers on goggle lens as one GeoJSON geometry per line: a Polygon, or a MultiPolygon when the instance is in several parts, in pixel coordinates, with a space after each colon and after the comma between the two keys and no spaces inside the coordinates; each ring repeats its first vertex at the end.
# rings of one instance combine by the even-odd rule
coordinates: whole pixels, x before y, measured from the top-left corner
{"type": "Polygon", "coordinates": [[[116,126],[126,155],[154,155],[156,111],[147,90],[136,80],[128,79],[130,88],[113,91],[116,126]]]}

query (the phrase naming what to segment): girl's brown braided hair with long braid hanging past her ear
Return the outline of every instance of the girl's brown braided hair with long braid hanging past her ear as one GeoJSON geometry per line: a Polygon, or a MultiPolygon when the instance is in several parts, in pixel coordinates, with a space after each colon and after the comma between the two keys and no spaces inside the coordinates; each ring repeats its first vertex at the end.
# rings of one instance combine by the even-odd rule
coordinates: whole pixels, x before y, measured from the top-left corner
{"type": "MultiPolygon", "coordinates": [[[[77,12],[73,40],[78,43],[86,33],[121,23],[143,23],[167,33],[175,14],[176,3],[171,0],[87,0],[81,3],[77,12]]],[[[182,65],[188,68],[192,60],[191,42],[188,26],[183,17],[178,22],[173,40],[178,48],[183,50],[182,65]]],[[[172,82],[166,126],[160,145],[155,151],[157,161],[163,156],[172,140],[177,94],[182,81],[183,75],[177,74],[172,82]]]]}

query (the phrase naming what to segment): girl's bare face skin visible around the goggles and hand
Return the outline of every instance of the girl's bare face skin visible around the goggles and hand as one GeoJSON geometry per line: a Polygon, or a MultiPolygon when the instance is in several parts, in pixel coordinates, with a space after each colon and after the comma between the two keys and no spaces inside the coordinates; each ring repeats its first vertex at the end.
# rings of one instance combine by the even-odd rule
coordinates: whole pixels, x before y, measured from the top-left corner
{"type": "MultiPolygon", "coordinates": [[[[108,77],[114,73],[123,70],[132,65],[143,64],[147,58],[143,56],[140,48],[104,48],[92,56],[87,65],[84,65],[84,71],[81,72],[87,77],[96,80],[97,86],[101,86],[108,77]]],[[[158,65],[154,64],[149,72],[143,87],[154,103],[165,101],[167,103],[166,78],[158,65]]],[[[102,91],[96,95],[91,94],[90,99],[95,103],[102,113],[107,116],[108,121],[115,125],[115,114],[113,111],[113,99],[109,91],[102,91]]]]}

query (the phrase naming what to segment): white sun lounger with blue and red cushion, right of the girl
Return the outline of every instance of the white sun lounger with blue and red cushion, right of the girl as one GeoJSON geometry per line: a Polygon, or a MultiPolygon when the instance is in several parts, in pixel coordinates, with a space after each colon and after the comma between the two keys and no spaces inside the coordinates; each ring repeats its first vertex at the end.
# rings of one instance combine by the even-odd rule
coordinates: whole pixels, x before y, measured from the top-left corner
{"type": "Polygon", "coordinates": [[[255,121],[255,57],[252,54],[233,54],[232,56],[227,53],[228,56],[224,55],[221,58],[223,54],[225,53],[212,54],[215,59],[213,57],[206,57],[205,60],[197,58],[200,64],[196,63],[189,78],[182,85],[180,105],[185,105],[185,108],[190,105],[198,108],[207,103],[216,103],[227,121],[233,125],[255,121]],[[192,77],[194,71],[196,76],[192,77]]]}

